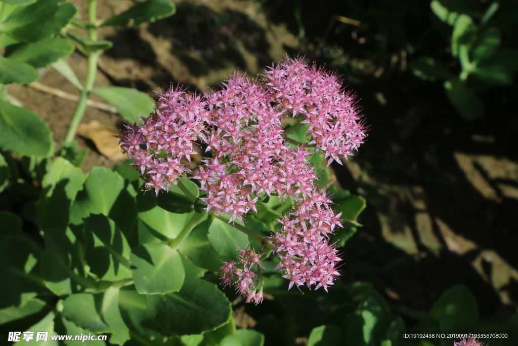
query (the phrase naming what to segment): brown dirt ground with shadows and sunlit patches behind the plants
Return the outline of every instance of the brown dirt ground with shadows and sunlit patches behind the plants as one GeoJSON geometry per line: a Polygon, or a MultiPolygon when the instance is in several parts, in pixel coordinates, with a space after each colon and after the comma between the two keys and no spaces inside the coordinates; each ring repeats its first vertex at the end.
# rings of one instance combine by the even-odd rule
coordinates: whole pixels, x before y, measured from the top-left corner
{"type": "MultiPolygon", "coordinates": [[[[84,15],[87,2],[73,3],[84,15]]],[[[99,2],[98,15],[108,18],[129,5],[99,2]]],[[[152,96],[171,82],[206,90],[235,67],[255,75],[285,51],[311,48],[255,2],[198,0],[177,6],[175,16],[138,29],[100,30],[99,38],[113,41],[114,48],[100,58],[95,86],[135,87],[152,96]]],[[[85,58],[75,52],[67,61],[83,80],[85,58]]],[[[420,123],[415,114],[429,110],[392,92],[392,80],[378,82],[383,74],[378,66],[358,66],[372,82],[348,81],[362,96],[371,132],[355,159],[333,166],[342,186],[368,202],[360,220],[365,227],[345,249],[347,280],[373,282],[400,313],[405,313],[401,306],[427,311],[445,288],[463,282],[476,296],[484,321],[505,321],[518,304],[518,163],[502,149],[510,134],[473,132],[462,120],[427,127],[430,122],[420,123]],[[435,143],[430,138],[443,144],[425,147],[435,143]]],[[[51,67],[40,72],[41,84],[78,94],[51,67]]],[[[30,86],[11,85],[9,92],[49,122],[59,145],[75,104],[30,86]]],[[[92,120],[121,126],[119,116],[88,107],[83,121],[92,120]]],[[[78,141],[80,148],[91,149],[85,171],[112,167],[91,142],[78,141]]]]}

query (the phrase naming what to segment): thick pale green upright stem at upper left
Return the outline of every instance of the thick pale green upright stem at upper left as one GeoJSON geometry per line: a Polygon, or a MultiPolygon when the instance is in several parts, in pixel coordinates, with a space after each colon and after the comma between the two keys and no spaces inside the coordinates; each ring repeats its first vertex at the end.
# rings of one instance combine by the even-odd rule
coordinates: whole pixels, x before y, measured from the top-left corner
{"type": "MultiPolygon", "coordinates": [[[[97,40],[97,32],[95,27],[96,11],[97,0],[89,0],[88,38],[90,38],[91,40],[97,40]]],[[[90,92],[92,91],[94,86],[95,74],[97,73],[97,58],[99,57],[99,55],[100,52],[88,52],[87,77],[84,81],[84,88],[83,90],[81,90],[79,102],[77,103],[76,109],[74,110],[74,114],[72,115],[72,119],[70,120],[70,124],[68,126],[68,130],[66,132],[62,146],[71,144],[76,137],[77,128],[81,123],[84,111],[87,109],[88,96],[90,95],[90,92]]]]}

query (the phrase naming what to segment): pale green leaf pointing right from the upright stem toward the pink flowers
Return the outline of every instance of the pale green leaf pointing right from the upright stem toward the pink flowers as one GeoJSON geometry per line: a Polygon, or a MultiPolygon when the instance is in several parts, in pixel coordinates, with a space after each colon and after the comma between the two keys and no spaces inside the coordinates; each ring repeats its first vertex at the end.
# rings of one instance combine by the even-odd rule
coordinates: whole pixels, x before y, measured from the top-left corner
{"type": "Polygon", "coordinates": [[[147,117],[154,109],[154,102],[145,92],[133,88],[104,87],[92,90],[117,109],[122,118],[128,122],[140,121],[139,115],[147,117]]]}

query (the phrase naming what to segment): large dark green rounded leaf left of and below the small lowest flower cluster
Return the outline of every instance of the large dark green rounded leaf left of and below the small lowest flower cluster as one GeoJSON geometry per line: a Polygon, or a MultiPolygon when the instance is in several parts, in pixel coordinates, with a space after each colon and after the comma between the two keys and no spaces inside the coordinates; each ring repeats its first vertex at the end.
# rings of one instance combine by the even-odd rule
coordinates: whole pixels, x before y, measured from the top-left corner
{"type": "Polygon", "coordinates": [[[155,323],[169,333],[202,334],[231,318],[231,302],[218,286],[203,279],[187,277],[180,292],[147,295],[148,309],[155,323]]]}

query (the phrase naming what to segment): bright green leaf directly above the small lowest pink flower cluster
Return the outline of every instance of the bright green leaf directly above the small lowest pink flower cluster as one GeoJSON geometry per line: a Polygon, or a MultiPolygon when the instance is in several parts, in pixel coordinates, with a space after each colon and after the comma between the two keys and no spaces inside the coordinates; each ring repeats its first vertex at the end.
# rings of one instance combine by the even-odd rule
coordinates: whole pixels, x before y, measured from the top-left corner
{"type": "Polygon", "coordinates": [[[208,239],[216,252],[230,258],[239,255],[238,247],[244,250],[249,244],[246,234],[215,217],[209,226],[208,239]]]}

